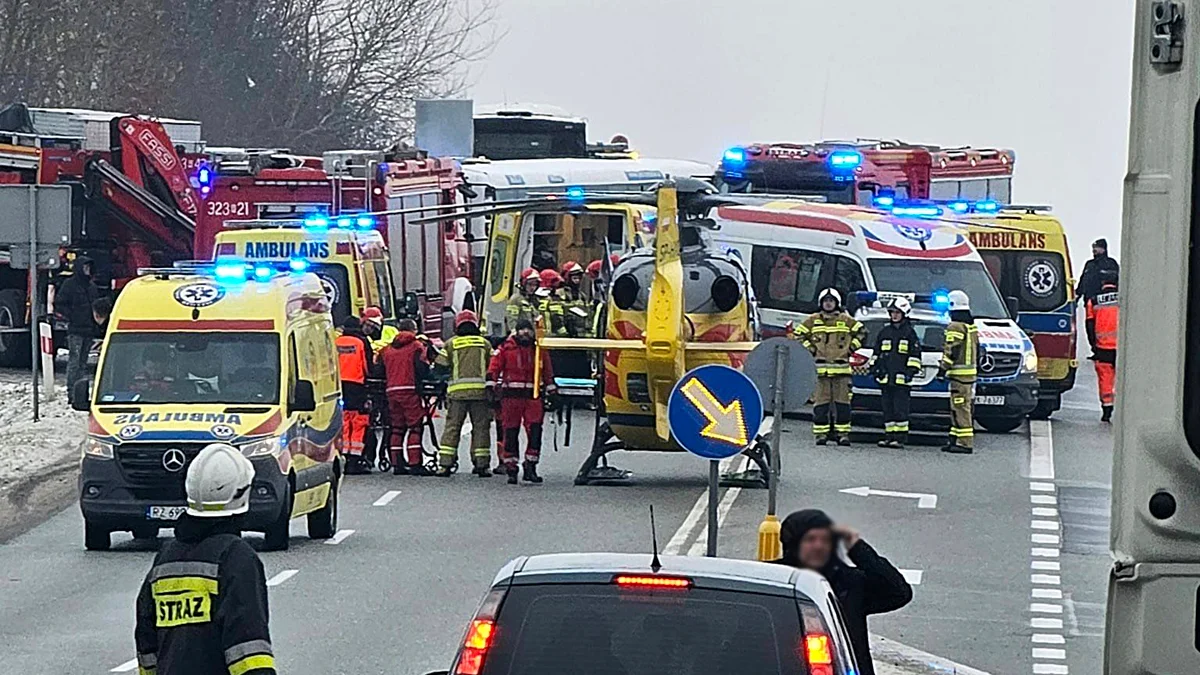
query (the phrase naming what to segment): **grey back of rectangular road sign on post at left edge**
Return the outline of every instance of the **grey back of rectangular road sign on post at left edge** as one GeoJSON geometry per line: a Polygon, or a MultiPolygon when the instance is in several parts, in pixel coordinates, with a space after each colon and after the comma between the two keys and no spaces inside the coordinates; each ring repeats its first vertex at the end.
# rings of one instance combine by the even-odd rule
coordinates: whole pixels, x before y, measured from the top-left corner
{"type": "MultiPolygon", "coordinates": [[[[29,316],[22,317],[19,325],[12,317],[12,325],[0,325],[7,340],[29,334],[29,357],[32,386],[34,422],[41,416],[37,394],[37,370],[42,362],[41,313],[38,270],[59,267],[59,246],[71,237],[71,186],[68,185],[0,185],[0,247],[8,249],[13,269],[28,269],[29,316]]],[[[52,363],[53,366],[53,363],[52,363]]],[[[53,377],[53,368],[50,370],[53,377]]]]}

